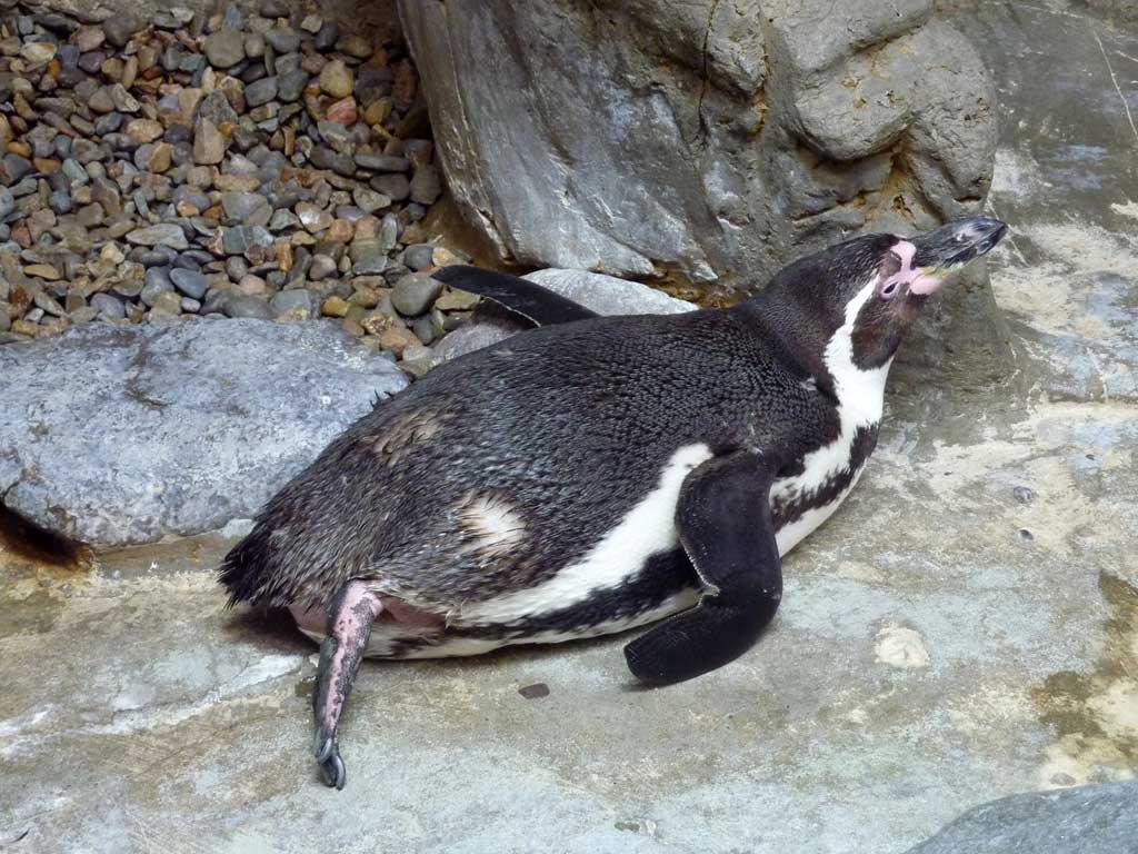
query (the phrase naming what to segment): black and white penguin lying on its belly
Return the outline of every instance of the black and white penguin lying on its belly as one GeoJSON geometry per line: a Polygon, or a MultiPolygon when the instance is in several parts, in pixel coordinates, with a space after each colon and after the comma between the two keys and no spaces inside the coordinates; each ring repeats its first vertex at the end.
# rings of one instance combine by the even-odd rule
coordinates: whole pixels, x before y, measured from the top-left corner
{"type": "Polygon", "coordinates": [[[781,603],[781,557],[861,476],[906,330],[1005,231],[973,217],[857,237],[739,305],[670,315],[595,317],[513,277],[444,273],[545,325],[364,416],[220,568],[231,605],[289,608],[320,641],[324,782],[346,781],[339,723],[365,656],[654,624],[624,651],[657,687],[747,652],[781,603]]]}

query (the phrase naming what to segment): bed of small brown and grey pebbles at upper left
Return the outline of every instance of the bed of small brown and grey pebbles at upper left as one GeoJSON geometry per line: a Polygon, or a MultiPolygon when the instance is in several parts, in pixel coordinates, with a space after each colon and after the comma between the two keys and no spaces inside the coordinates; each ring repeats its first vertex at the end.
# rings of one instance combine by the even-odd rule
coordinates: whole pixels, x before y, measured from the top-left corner
{"type": "Polygon", "coordinates": [[[402,43],[265,0],[84,24],[0,0],[0,344],[90,322],[338,319],[412,375],[477,298],[402,43]]]}

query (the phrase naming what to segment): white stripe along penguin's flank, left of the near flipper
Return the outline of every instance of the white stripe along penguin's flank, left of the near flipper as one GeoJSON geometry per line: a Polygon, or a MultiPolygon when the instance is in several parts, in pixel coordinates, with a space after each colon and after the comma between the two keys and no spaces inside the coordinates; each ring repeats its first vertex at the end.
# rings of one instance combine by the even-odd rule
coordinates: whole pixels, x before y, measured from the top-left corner
{"type": "Polygon", "coordinates": [[[660,481],[620,523],[576,564],[549,581],[485,602],[471,602],[452,614],[453,625],[511,623],[580,602],[599,590],[622,584],[641,570],[652,555],[674,549],[676,502],[684,478],[711,458],[704,444],[678,449],[660,473],[660,481]]]}

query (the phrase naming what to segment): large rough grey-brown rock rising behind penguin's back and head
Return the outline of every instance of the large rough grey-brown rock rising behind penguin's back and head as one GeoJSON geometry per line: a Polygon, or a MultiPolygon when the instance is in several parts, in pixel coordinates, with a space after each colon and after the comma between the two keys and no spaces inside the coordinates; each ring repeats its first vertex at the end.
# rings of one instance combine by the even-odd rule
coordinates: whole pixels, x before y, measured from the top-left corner
{"type": "Polygon", "coordinates": [[[503,257],[731,287],[975,213],[992,83],[933,0],[401,0],[452,192],[503,257]]]}

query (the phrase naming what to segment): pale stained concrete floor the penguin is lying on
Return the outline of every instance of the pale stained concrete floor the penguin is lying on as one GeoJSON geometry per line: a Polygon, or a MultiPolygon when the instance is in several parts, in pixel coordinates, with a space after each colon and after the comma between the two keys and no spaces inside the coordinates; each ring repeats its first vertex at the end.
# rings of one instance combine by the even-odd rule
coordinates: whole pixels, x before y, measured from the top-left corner
{"type": "Polygon", "coordinates": [[[657,692],[622,639],[370,664],[336,793],[314,649],[224,610],[224,542],[85,573],[0,555],[0,848],[893,854],[983,800],[1133,775],[1138,33],[979,7],[954,17],[1004,104],[1020,370],[894,385],[756,650],[657,692]]]}

